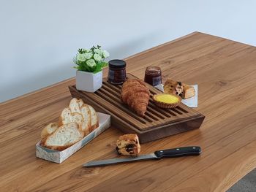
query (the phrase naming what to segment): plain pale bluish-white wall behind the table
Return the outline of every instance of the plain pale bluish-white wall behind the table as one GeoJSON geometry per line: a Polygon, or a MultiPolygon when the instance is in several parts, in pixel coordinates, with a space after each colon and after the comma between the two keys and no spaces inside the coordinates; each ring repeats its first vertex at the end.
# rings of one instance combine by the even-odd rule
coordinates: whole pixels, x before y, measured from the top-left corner
{"type": "Polygon", "coordinates": [[[75,76],[79,47],[125,58],[201,31],[256,45],[256,1],[0,0],[0,102],[75,76]]]}

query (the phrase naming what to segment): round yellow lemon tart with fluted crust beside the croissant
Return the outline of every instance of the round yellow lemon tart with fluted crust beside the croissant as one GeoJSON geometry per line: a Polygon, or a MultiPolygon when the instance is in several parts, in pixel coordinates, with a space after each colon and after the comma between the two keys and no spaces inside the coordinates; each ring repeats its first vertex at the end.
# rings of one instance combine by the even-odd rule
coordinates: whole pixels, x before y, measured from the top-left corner
{"type": "Polygon", "coordinates": [[[161,108],[174,108],[181,103],[181,98],[175,94],[156,94],[153,96],[154,103],[161,108]]]}

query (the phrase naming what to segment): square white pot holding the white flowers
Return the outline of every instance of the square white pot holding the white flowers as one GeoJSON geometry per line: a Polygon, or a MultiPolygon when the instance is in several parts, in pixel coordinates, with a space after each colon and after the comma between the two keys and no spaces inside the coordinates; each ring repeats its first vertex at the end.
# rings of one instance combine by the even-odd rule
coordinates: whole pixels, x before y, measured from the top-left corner
{"type": "Polygon", "coordinates": [[[80,91],[94,93],[102,87],[102,71],[97,73],[77,71],[76,88],[80,91]]]}

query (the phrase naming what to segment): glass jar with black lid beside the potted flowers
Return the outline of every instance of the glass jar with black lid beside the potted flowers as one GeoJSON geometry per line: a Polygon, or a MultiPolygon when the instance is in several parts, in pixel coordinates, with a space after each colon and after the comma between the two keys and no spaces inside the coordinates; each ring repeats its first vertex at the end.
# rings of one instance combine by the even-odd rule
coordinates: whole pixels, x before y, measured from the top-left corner
{"type": "Polygon", "coordinates": [[[127,78],[126,66],[126,62],[120,59],[108,61],[108,82],[122,84],[127,78]]]}

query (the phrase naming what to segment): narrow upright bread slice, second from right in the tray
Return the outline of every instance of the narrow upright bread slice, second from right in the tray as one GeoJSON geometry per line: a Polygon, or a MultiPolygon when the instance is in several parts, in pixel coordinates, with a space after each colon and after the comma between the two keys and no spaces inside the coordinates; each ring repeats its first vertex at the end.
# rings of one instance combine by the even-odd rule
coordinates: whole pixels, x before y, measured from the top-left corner
{"type": "Polygon", "coordinates": [[[80,107],[80,111],[83,116],[82,130],[86,136],[91,131],[91,110],[87,104],[83,104],[82,107],[80,107]]]}

